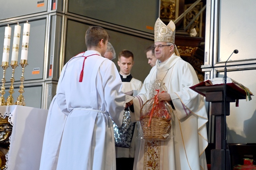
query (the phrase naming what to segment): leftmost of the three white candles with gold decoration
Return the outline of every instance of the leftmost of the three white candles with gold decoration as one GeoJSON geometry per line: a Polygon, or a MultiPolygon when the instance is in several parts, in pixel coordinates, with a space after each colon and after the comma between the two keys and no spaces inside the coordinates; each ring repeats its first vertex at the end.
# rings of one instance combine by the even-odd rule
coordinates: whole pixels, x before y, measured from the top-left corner
{"type": "Polygon", "coordinates": [[[4,41],[3,41],[3,59],[2,59],[2,63],[3,62],[9,62],[9,52],[10,52],[10,42],[11,42],[11,32],[12,32],[12,28],[9,27],[5,27],[5,31],[4,31],[4,41]]]}

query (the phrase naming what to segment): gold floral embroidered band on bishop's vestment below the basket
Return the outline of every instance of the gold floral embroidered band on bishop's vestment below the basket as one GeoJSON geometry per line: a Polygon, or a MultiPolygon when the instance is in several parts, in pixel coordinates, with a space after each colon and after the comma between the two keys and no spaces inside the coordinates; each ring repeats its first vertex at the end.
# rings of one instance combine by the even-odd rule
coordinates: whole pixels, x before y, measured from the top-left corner
{"type": "Polygon", "coordinates": [[[160,169],[160,146],[161,140],[145,141],[144,170],[160,169]]]}

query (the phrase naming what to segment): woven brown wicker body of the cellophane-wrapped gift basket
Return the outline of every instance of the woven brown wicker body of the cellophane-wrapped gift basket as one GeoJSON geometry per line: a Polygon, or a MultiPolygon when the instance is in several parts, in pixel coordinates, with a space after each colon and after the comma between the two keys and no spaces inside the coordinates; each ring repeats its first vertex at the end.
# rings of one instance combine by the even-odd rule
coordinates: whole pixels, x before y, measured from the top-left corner
{"type": "Polygon", "coordinates": [[[146,140],[166,140],[169,138],[171,130],[171,119],[152,117],[150,126],[148,126],[150,118],[144,117],[140,119],[143,132],[143,139],[146,140]]]}

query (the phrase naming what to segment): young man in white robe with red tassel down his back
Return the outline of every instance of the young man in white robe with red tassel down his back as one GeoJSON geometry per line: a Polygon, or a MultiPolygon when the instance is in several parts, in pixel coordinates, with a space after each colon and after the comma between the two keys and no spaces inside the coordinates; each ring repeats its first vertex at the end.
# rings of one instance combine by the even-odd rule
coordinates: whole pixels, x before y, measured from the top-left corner
{"type": "Polygon", "coordinates": [[[62,70],[56,100],[67,120],[57,170],[115,170],[112,120],[122,124],[125,95],[116,66],[102,57],[108,37],[103,28],[90,27],[85,35],[88,51],[62,70]]]}

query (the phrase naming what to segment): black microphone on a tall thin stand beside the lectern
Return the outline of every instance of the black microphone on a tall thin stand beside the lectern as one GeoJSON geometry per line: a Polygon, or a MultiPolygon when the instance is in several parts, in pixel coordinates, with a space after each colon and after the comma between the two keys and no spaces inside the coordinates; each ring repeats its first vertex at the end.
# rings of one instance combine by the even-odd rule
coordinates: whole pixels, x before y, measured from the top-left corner
{"type": "MultiPolygon", "coordinates": [[[[233,52],[232,52],[232,54],[233,53],[235,53],[235,54],[237,54],[238,53],[238,50],[236,49],[236,50],[234,50],[233,52]]],[[[231,55],[232,55],[231,54],[231,55]]],[[[231,57],[231,55],[228,57],[228,60],[229,60],[229,58],[231,57]]],[[[227,60],[227,61],[228,61],[227,60]]],[[[226,124],[226,115],[227,115],[227,111],[226,111],[226,109],[227,109],[227,61],[225,62],[225,68],[224,68],[224,122],[225,122],[225,124],[224,124],[224,139],[223,139],[223,150],[224,150],[224,152],[223,152],[223,156],[224,156],[224,167],[223,167],[223,169],[224,170],[226,170],[226,147],[227,147],[227,140],[226,140],[226,131],[227,131],[227,124],[226,124]]]]}

